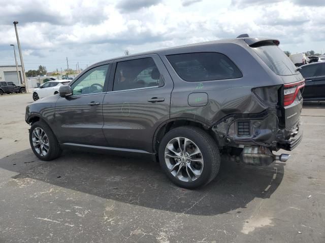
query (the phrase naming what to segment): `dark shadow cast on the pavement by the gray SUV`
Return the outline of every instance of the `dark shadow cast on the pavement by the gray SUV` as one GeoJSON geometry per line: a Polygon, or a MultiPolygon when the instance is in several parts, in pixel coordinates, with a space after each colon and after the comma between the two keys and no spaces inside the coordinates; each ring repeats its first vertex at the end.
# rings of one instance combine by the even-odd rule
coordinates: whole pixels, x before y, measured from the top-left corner
{"type": "Polygon", "coordinates": [[[254,198],[270,197],[284,171],[283,163],[250,167],[223,158],[214,181],[187,190],[174,186],[159,164],[148,159],[64,151],[53,161],[41,161],[27,149],[1,158],[0,167],[16,172],[15,179],[36,179],[128,204],[194,215],[240,213],[254,198]],[[239,212],[230,212],[236,209],[239,212]]]}

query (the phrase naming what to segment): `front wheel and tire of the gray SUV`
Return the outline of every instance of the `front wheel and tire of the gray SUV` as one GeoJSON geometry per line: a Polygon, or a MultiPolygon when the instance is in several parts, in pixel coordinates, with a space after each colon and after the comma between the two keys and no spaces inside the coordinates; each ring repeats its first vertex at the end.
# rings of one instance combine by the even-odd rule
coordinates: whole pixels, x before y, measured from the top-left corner
{"type": "Polygon", "coordinates": [[[43,121],[37,121],[31,125],[29,143],[34,154],[41,160],[55,159],[60,156],[62,151],[54,133],[43,121]],[[42,144],[40,145],[38,141],[41,141],[42,144]]]}

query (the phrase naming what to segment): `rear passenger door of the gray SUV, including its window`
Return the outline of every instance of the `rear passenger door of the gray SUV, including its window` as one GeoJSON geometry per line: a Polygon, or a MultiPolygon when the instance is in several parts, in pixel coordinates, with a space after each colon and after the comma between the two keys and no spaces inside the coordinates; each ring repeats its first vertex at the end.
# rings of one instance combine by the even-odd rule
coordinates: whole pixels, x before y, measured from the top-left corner
{"type": "Polygon", "coordinates": [[[170,118],[172,79],[157,54],[118,60],[103,104],[108,146],[152,152],[157,127],[170,118]]]}

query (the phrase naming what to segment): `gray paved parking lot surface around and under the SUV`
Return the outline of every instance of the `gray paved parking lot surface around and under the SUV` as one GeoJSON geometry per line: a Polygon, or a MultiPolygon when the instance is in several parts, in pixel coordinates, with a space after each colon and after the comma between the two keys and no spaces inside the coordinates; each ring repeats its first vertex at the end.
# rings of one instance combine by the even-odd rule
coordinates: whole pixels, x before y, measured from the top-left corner
{"type": "MultiPolygon", "coordinates": [[[[0,97],[0,242],[325,242],[325,103],[306,102],[287,163],[223,157],[204,188],[173,185],[142,158],[32,153],[31,94],[0,97]]],[[[285,151],[279,151],[279,153],[285,151]]]]}

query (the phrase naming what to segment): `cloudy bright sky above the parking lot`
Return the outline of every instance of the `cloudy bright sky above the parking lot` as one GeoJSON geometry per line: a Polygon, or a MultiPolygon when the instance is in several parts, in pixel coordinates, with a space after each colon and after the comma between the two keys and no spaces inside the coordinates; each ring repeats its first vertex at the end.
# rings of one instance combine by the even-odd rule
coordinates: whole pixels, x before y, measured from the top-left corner
{"type": "MultiPolygon", "coordinates": [[[[17,25],[25,70],[95,62],[249,36],[291,53],[325,52],[325,0],[0,0],[0,65],[14,65],[17,25]]],[[[18,54],[18,52],[17,52],[18,54]]],[[[19,58],[18,58],[19,59],[19,58]]]]}

